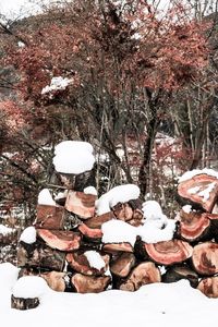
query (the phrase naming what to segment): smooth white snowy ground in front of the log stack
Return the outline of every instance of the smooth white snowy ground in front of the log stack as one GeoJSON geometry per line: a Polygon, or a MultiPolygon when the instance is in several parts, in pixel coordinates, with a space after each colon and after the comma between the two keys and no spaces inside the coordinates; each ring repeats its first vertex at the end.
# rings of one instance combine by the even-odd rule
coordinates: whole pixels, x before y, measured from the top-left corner
{"type": "Polygon", "coordinates": [[[218,320],[218,299],[206,298],[184,280],[147,284],[133,293],[59,293],[46,286],[38,307],[12,310],[11,293],[17,272],[12,264],[0,264],[0,313],[5,326],[205,327],[218,320]]]}

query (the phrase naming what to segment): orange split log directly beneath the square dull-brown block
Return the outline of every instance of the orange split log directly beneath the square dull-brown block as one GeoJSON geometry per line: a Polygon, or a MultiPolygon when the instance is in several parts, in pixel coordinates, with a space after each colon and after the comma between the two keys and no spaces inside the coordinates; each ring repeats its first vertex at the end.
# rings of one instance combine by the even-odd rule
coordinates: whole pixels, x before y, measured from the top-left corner
{"type": "Polygon", "coordinates": [[[37,229],[37,235],[52,249],[74,251],[81,246],[81,234],[73,231],[37,229]]]}

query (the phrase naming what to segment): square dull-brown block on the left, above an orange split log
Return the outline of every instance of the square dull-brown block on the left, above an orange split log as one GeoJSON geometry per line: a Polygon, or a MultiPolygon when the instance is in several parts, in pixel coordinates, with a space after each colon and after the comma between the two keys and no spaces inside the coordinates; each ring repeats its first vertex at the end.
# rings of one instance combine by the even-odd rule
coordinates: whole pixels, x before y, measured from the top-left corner
{"type": "Polygon", "coordinates": [[[34,226],[45,229],[63,229],[66,216],[64,207],[37,205],[34,226]]]}

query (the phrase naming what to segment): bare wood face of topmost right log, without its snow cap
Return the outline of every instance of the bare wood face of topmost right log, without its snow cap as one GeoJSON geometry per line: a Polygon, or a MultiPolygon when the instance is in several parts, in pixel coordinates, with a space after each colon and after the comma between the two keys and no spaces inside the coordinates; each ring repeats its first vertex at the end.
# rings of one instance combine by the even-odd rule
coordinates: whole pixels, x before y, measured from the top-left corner
{"type": "Polygon", "coordinates": [[[218,194],[218,180],[216,177],[201,173],[194,175],[190,180],[181,182],[178,186],[178,194],[185,201],[190,202],[195,207],[202,207],[205,211],[211,213],[218,194]],[[209,190],[208,187],[211,186],[209,190]],[[209,190],[209,197],[204,198],[201,192],[209,190]]]}

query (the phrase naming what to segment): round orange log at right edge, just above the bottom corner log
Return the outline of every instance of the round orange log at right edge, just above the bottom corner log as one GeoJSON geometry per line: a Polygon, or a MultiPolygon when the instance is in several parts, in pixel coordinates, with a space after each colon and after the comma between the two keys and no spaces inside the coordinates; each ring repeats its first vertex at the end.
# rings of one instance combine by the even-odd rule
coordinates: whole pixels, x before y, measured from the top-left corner
{"type": "Polygon", "coordinates": [[[194,246],[192,263],[194,269],[205,276],[218,272],[218,244],[205,242],[194,246]]]}

